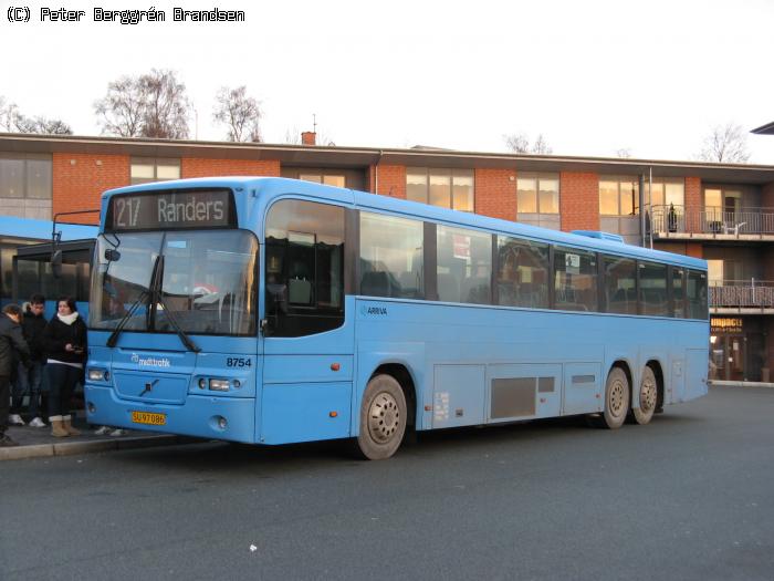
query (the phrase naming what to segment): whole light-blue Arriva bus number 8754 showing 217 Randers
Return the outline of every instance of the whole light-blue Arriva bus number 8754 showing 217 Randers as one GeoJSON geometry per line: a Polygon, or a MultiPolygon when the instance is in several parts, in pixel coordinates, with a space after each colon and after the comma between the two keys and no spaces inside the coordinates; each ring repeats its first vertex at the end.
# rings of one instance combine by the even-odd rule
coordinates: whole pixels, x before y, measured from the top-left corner
{"type": "Polygon", "coordinates": [[[253,444],[588,415],[707,393],[703,260],[283,178],[107,191],[87,418],[253,444]]]}

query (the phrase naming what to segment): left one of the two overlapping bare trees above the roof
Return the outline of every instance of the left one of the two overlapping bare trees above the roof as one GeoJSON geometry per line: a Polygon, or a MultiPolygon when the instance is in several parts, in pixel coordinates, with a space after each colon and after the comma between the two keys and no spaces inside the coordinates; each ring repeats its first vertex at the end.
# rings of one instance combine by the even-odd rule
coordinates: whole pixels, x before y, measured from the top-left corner
{"type": "Polygon", "coordinates": [[[94,111],[102,117],[102,133],[119,137],[143,135],[145,87],[138,79],[122,76],[107,84],[107,94],[94,103],[94,111]]]}

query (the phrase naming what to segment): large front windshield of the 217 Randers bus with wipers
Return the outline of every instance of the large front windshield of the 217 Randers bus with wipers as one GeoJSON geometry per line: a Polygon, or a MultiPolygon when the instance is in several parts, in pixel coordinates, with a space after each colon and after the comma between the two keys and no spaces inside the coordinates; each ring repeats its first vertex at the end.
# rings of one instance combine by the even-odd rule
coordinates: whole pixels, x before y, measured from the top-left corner
{"type": "Polygon", "coordinates": [[[257,260],[258,241],[245,230],[102,235],[90,326],[175,333],[177,323],[189,334],[252,335],[257,260]]]}

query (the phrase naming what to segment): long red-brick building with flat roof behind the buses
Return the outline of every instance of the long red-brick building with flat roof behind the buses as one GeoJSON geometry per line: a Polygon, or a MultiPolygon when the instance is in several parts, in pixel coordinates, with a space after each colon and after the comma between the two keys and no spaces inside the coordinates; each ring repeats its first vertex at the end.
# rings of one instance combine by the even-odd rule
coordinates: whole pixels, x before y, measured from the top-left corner
{"type": "Polygon", "coordinates": [[[1,215],[51,219],[96,208],[105,189],[215,175],[323,181],[707,259],[718,377],[770,378],[774,166],[316,146],[313,133],[302,145],[0,134],[1,215]]]}

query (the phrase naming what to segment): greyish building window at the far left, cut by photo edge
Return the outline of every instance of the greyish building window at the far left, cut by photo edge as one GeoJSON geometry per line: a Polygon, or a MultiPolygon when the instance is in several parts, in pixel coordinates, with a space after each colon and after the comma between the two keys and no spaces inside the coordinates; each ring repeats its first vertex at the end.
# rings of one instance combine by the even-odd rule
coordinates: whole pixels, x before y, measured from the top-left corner
{"type": "Polygon", "coordinates": [[[51,156],[0,154],[0,198],[51,199],[51,156]]]}

